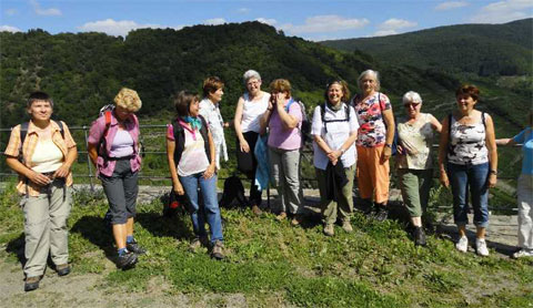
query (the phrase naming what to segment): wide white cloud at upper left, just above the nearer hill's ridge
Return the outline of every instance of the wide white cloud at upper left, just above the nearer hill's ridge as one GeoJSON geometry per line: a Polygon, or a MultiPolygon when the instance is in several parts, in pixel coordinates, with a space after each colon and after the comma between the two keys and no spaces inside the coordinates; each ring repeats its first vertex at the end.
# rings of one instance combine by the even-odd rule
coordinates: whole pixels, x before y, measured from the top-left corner
{"type": "Polygon", "coordinates": [[[112,20],[112,19],[105,19],[105,20],[98,20],[98,21],[91,21],[91,22],[86,22],[83,25],[78,27],[78,30],[82,32],[104,32],[109,35],[122,35],[125,37],[128,35],[128,32],[131,30],[135,29],[143,29],[143,28],[172,28],[175,30],[179,30],[183,28],[182,25],[179,27],[163,27],[160,24],[141,24],[137,23],[132,20],[112,20]]]}

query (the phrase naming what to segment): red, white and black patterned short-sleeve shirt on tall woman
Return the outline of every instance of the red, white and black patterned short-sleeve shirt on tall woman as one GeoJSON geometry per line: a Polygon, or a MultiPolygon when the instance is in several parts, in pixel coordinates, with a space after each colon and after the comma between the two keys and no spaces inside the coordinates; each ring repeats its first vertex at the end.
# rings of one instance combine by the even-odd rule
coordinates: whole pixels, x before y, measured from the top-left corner
{"type": "Polygon", "coordinates": [[[392,110],[389,97],[380,92],[364,101],[353,97],[352,105],[359,121],[358,146],[375,147],[385,144],[386,126],[382,111],[392,110]]]}

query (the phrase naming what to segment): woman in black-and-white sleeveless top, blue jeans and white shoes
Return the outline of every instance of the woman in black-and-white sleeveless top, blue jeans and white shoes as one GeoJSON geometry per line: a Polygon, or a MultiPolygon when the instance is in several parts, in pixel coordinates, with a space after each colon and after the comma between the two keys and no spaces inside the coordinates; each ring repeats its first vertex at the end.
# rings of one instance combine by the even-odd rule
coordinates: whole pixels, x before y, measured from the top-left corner
{"type": "Polygon", "coordinates": [[[496,186],[497,152],[492,117],[475,110],[480,90],[465,84],[455,91],[457,109],[442,121],[439,145],[440,182],[452,186],[453,219],[457,225],[455,248],[469,249],[469,191],[474,208],[475,251],[489,256],[485,229],[489,226],[489,188],[496,186]]]}

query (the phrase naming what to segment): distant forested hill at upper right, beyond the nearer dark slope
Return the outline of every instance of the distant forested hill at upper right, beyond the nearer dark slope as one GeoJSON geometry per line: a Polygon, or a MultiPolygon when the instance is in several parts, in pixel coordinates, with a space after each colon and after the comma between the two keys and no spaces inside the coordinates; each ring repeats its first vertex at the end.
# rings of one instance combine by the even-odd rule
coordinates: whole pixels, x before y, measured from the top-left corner
{"type": "Polygon", "coordinates": [[[376,60],[402,62],[447,73],[531,75],[533,19],[505,24],[461,24],[379,38],[321,42],[363,51],[376,60]]]}

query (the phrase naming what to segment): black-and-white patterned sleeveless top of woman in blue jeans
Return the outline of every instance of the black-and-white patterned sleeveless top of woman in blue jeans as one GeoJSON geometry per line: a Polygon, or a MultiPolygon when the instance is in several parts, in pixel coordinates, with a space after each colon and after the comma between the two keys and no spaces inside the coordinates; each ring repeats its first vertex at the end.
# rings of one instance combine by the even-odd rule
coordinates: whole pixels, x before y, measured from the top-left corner
{"type": "Polygon", "coordinates": [[[451,116],[447,162],[456,165],[479,165],[489,162],[483,114],[475,124],[461,124],[451,116]]]}

